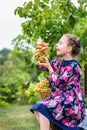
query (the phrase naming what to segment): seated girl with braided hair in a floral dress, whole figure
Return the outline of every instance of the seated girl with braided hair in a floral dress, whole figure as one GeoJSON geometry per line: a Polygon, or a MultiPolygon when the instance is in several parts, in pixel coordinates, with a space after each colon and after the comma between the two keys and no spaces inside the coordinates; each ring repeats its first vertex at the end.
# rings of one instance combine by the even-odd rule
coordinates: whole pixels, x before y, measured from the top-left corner
{"type": "Polygon", "coordinates": [[[30,110],[38,120],[40,130],[51,130],[50,122],[62,130],[79,130],[78,126],[85,117],[85,102],[80,86],[81,70],[75,59],[80,53],[80,41],[75,35],[65,34],[56,47],[57,55],[62,59],[50,62],[46,59],[46,63],[38,61],[40,67],[49,71],[52,96],[35,104],[30,110]]]}

